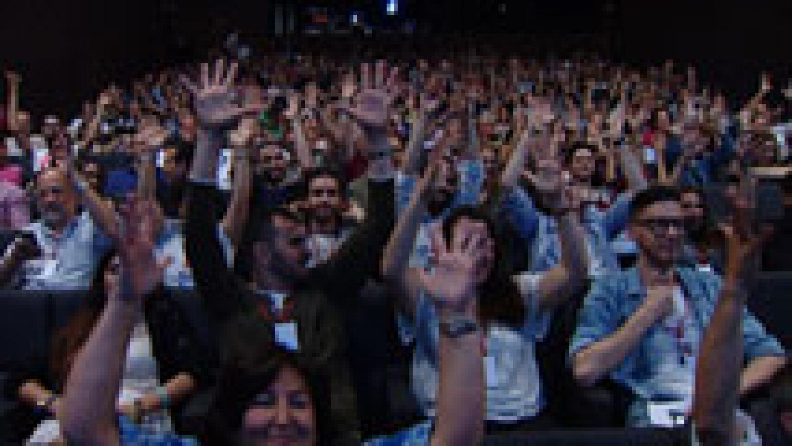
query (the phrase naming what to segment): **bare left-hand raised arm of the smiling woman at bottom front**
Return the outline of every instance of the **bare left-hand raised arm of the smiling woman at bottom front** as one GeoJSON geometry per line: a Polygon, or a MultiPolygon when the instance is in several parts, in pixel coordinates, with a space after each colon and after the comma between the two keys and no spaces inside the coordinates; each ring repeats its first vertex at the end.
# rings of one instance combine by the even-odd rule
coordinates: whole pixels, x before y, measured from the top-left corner
{"type": "Polygon", "coordinates": [[[120,283],[109,290],[105,310],[74,360],[61,403],[69,444],[120,444],[116,398],[129,338],[141,300],[162,278],[154,259],[154,213],[154,202],[133,198],[120,221],[120,283]]]}

